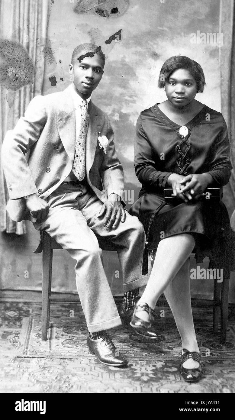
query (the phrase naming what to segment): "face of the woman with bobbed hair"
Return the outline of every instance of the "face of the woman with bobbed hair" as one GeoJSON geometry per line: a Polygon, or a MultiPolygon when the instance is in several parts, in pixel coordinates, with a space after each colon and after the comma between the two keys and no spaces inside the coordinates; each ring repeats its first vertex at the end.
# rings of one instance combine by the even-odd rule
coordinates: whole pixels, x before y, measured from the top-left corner
{"type": "Polygon", "coordinates": [[[165,82],[165,92],[167,99],[174,108],[182,108],[187,106],[196,96],[198,87],[196,80],[191,73],[179,68],[175,70],[165,82]]]}

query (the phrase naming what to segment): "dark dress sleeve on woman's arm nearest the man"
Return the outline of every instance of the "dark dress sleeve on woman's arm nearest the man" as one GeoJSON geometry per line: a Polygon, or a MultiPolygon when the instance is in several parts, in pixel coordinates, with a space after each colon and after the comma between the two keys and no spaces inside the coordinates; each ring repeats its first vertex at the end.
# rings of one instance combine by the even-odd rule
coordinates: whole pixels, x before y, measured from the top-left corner
{"type": "Polygon", "coordinates": [[[172,172],[157,171],[153,149],[141,123],[141,114],[136,124],[135,171],[141,184],[148,184],[157,189],[164,189],[172,172]]]}

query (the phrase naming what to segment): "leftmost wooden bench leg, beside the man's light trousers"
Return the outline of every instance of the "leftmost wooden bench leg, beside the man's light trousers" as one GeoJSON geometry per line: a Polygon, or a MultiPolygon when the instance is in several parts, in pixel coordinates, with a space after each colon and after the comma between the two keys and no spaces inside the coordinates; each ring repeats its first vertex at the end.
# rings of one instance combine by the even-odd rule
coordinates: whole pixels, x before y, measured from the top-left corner
{"type": "Polygon", "coordinates": [[[50,323],[52,253],[50,236],[44,235],[42,249],[42,340],[47,340],[47,328],[49,328],[50,323]]]}

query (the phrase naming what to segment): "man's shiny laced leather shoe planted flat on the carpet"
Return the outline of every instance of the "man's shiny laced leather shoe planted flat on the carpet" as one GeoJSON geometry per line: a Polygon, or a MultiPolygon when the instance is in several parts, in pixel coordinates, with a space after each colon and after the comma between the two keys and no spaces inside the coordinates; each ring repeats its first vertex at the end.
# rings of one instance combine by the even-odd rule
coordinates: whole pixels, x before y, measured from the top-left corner
{"type": "Polygon", "coordinates": [[[122,367],[128,364],[128,361],[116,349],[108,334],[105,334],[104,337],[98,340],[92,340],[88,336],[87,345],[89,352],[95,354],[97,359],[104,365],[122,367]]]}

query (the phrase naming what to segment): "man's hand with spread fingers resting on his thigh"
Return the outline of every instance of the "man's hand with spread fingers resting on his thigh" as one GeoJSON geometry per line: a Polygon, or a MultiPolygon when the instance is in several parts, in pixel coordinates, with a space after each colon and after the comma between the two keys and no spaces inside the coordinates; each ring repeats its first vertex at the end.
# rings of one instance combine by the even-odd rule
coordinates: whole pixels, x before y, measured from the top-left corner
{"type": "Polygon", "coordinates": [[[106,230],[116,229],[120,223],[125,222],[125,210],[121,203],[121,197],[117,194],[110,194],[107,201],[101,207],[98,218],[104,217],[106,230]],[[104,217],[105,215],[105,217],[104,217]]]}

